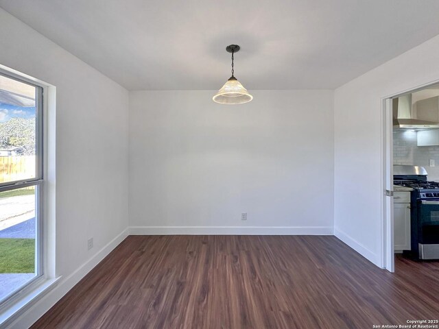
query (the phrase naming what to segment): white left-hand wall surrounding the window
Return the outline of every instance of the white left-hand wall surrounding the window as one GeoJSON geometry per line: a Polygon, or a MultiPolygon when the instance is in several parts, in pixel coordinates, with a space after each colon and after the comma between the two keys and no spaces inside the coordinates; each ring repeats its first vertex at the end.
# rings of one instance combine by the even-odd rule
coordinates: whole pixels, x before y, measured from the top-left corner
{"type": "Polygon", "coordinates": [[[0,64],[57,90],[56,273],[62,282],[15,325],[27,328],[126,234],[128,91],[1,9],[0,29],[0,64]]]}

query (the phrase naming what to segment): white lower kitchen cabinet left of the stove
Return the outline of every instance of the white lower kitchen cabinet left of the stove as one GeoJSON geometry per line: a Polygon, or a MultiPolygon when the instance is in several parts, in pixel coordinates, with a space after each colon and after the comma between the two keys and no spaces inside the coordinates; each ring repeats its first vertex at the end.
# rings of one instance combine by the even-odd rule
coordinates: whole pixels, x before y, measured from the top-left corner
{"type": "Polygon", "coordinates": [[[395,202],[393,218],[395,251],[410,250],[410,204],[395,202]]]}

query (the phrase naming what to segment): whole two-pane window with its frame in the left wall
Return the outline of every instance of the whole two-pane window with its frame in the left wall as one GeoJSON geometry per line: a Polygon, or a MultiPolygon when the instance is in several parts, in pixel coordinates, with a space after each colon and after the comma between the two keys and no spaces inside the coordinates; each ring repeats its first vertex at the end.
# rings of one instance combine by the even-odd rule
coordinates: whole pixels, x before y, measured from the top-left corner
{"type": "Polygon", "coordinates": [[[43,276],[43,88],[0,75],[0,304],[43,276]]]}

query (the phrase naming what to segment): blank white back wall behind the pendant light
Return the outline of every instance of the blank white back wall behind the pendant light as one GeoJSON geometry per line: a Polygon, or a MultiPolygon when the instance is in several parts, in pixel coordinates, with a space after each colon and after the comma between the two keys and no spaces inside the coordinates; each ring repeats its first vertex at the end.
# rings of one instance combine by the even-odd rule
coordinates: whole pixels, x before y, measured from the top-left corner
{"type": "Polygon", "coordinates": [[[332,234],[333,92],[214,93],[130,93],[130,232],[332,234]]]}

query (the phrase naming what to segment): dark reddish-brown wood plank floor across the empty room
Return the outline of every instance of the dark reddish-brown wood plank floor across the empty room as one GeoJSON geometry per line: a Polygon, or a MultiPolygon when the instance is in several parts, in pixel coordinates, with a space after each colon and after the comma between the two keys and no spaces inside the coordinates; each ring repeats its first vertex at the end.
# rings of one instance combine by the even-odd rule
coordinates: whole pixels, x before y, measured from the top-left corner
{"type": "Polygon", "coordinates": [[[439,318],[439,263],[334,236],[128,236],[32,328],[372,328],[439,318]]]}

